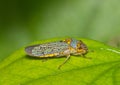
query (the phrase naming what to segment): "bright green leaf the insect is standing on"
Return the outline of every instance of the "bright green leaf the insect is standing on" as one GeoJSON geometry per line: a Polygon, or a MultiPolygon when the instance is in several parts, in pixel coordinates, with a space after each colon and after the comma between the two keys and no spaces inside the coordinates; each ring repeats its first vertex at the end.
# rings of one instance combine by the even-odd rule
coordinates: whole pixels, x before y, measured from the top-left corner
{"type": "MultiPolygon", "coordinates": [[[[60,39],[37,41],[32,44],[60,39]]],[[[120,85],[120,50],[103,43],[81,39],[89,48],[86,57],[71,56],[46,62],[27,56],[24,48],[0,62],[0,85],[120,85]]]]}

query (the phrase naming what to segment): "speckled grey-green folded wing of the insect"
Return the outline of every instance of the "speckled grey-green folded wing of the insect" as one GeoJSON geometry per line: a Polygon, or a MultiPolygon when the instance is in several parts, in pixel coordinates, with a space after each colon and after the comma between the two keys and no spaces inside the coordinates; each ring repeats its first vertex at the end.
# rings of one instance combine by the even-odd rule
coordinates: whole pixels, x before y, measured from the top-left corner
{"type": "Polygon", "coordinates": [[[69,45],[66,42],[59,41],[28,46],[25,48],[25,51],[30,56],[51,57],[52,55],[59,56],[60,53],[66,51],[67,49],[69,49],[69,45]]]}

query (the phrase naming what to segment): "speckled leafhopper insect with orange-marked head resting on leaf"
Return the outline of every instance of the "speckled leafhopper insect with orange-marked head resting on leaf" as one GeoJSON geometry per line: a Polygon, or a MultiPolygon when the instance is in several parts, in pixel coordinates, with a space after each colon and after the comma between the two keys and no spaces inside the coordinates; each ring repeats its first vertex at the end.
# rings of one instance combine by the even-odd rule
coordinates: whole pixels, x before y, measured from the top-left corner
{"type": "Polygon", "coordinates": [[[88,52],[88,48],[81,40],[67,38],[61,41],[28,46],[25,51],[29,56],[40,58],[65,56],[65,61],[58,67],[60,69],[70,58],[70,55],[84,56],[88,52]]]}

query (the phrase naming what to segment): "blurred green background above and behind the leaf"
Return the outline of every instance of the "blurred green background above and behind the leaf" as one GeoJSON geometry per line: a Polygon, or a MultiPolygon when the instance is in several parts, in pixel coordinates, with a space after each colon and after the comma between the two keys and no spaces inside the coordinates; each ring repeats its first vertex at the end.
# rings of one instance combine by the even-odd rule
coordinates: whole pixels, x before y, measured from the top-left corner
{"type": "Polygon", "coordinates": [[[0,0],[0,61],[31,42],[67,36],[120,47],[120,0],[0,0]]]}

